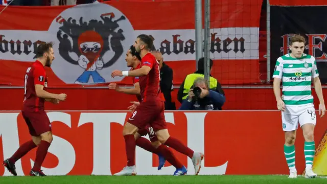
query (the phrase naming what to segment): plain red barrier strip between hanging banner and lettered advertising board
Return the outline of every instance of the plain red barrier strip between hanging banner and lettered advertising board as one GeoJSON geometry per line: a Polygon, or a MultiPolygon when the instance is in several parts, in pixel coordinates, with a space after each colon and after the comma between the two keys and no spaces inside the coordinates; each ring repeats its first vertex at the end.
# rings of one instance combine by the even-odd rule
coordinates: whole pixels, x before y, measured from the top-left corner
{"type": "MultiPolygon", "coordinates": [[[[53,104],[45,102],[45,109],[49,110],[127,110],[130,102],[137,101],[134,95],[119,93],[108,88],[51,88],[50,93],[67,94],[65,102],[53,104]]],[[[178,90],[172,91],[172,101],[176,108],[180,107],[177,98],[178,90]]],[[[227,98],[223,110],[275,110],[277,103],[272,88],[224,88],[227,98]]],[[[322,88],[322,94],[327,97],[327,88],[322,88]]],[[[319,100],[314,88],[312,89],[314,107],[318,109],[319,100]]],[[[0,89],[0,111],[20,110],[24,100],[24,89],[0,89]]]]}

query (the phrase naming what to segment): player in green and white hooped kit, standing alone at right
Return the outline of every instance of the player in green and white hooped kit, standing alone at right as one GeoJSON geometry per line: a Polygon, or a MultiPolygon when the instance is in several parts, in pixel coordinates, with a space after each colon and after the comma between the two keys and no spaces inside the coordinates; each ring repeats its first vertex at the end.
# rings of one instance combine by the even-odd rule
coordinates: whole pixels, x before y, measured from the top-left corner
{"type": "Polygon", "coordinates": [[[291,53],[279,57],[273,73],[273,89],[278,110],[282,111],[282,124],[285,132],[284,153],[290,169],[289,178],[296,178],[295,168],[295,136],[298,123],[305,138],[306,177],[313,178],[317,174],[312,170],[315,155],[313,139],[316,125],[316,114],[311,95],[311,80],[313,80],[319,99],[319,115],[323,117],[326,111],[322,96],[321,83],[317,64],[313,56],[303,54],[305,38],[295,35],[290,40],[291,53]],[[283,81],[283,96],[281,97],[281,79],[283,81]]]}

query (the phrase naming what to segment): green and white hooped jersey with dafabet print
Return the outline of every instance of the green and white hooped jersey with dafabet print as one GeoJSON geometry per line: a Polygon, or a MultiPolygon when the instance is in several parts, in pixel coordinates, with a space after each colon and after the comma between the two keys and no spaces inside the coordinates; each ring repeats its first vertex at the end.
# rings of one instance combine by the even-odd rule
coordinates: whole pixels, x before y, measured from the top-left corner
{"type": "Polygon", "coordinates": [[[303,54],[300,58],[292,58],[286,54],[277,59],[272,77],[282,79],[285,105],[303,105],[313,103],[311,81],[318,76],[313,56],[303,54]]]}

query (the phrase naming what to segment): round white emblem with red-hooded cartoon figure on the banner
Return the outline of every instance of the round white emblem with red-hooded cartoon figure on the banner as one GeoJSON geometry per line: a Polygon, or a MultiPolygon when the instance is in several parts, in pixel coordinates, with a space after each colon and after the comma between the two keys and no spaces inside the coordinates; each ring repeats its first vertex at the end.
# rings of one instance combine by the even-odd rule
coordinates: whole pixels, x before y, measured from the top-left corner
{"type": "Polygon", "coordinates": [[[135,39],[125,15],[106,4],[78,5],[56,17],[54,73],[67,84],[95,84],[113,79],[113,70],[128,70],[124,53],[135,39]]]}

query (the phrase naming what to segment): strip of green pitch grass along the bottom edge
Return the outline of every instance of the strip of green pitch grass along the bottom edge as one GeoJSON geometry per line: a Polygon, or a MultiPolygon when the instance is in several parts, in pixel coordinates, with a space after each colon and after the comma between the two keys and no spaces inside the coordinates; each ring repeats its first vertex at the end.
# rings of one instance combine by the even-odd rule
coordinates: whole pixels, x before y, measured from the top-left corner
{"type": "Polygon", "coordinates": [[[209,175],[209,176],[0,176],[1,184],[146,184],[146,183],[251,183],[251,184],[279,184],[279,183],[327,183],[327,177],[317,178],[287,178],[286,175],[209,175]]]}

